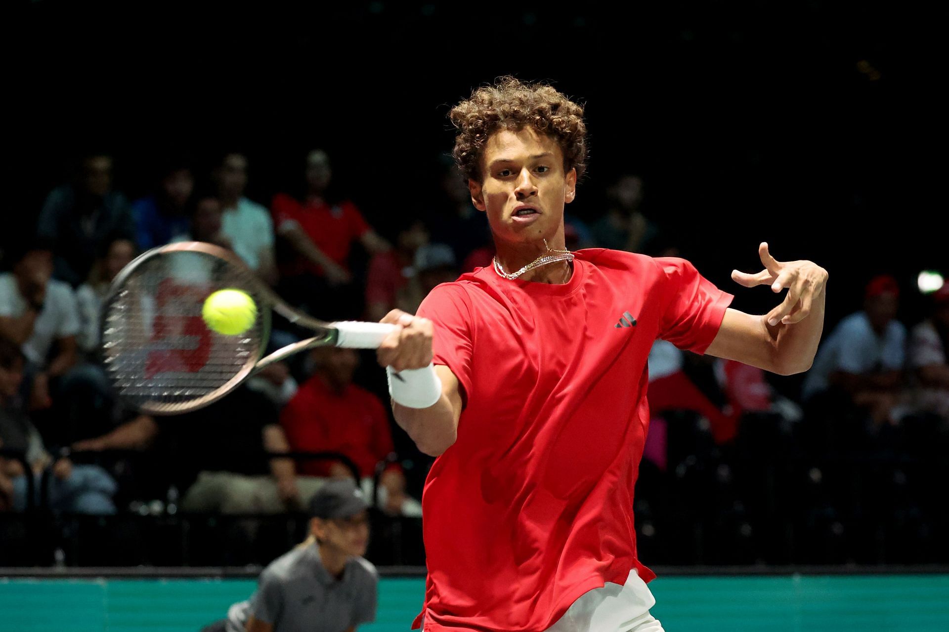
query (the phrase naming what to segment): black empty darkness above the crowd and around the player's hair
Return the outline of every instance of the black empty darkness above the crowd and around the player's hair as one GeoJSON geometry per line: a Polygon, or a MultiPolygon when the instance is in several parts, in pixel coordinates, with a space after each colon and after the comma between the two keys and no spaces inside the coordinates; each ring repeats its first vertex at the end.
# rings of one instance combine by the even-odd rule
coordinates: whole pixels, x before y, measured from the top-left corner
{"type": "Polygon", "coordinates": [[[773,305],[764,288],[729,280],[760,269],[767,240],[779,260],[829,270],[831,325],[883,271],[910,290],[912,322],[916,274],[949,260],[936,186],[943,18],[897,2],[40,0],[15,58],[27,79],[27,186],[8,234],[28,230],[84,151],[113,152],[117,187],[134,198],[165,154],[207,164],[239,149],[251,198],[269,204],[301,182],[317,146],[384,229],[437,204],[450,106],[512,73],[587,104],[575,214],[595,218],[611,178],[635,171],[646,211],[699,270],[740,290],[735,307],[773,305]]]}

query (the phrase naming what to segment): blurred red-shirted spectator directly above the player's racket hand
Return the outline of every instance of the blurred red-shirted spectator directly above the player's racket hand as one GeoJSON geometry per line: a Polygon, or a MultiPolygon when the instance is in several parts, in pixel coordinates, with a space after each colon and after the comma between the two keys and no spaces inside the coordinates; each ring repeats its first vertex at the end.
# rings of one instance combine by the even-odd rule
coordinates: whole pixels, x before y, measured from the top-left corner
{"type": "Polygon", "coordinates": [[[421,220],[417,219],[400,230],[396,238],[396,248],[375,254],[369,260],[365,284],[368,320],[381,321],[383,316],[397,307],[403,311],[415,313],[420,299],[419,302],[414,300],[406,302],[402,299],[416,275],[416,252],[427,243],[428,230],[421,220]]]}

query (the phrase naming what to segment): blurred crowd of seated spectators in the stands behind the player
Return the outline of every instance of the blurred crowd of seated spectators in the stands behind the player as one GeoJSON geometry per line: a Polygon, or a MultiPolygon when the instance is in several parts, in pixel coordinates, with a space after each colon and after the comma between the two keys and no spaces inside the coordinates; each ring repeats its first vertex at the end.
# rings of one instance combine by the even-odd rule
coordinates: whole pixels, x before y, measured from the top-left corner
{"type": "MultiPolygon", "coordinates": [[[[195,512],[299,511],[328,478],[356,476],[366,491],[378,480],[383,511],[420,515],[429,461],[395,432],[370,355],[315,350],[208,408],[151,418],[114,398],[100,317],[123,266],[182,240],[233,251],[290,304],[325,320],[415,312],[432,288],[493,256],[487,221],[454,166],[443,164],[441,207],[389,218],[385,230],[334,186],[331,157],[319,149],[300,165],[295,190],[258,201],[245,195],[251,162],[240,153],[221,154],[210,170],[171,160],[154,174],[153,195],[134,201],[114,186],[113,166],[110,156],[85,156],[72,181],[47,195],[35,232],[2,252],[0,511],[41,498],[53,511],[93,514],[150,511],[157,501],[195,512]],[[345,458],[299,455],[326,452],[345,458]],[[99,453],[113,456],[89,456],[99,453]]],[[[605,199],[595,221],[567,215],[569,249],[689,257],[643,203],[641,177],[616,178],[605,199]]],[[[944,441],[949,285],[926,297],[919,323],[899,320],[902,291],[910,288],[891,276],[870,280],[864,305],[827,324],[800,393],[754,367],[657,342],[646,459],[661,471],[676,465],[669,437],[682,412],[722,449],[763,417],[808,453],[891,447],[910,428],[918,442],[944,441]]],[[[305,335],[286,322],[274,328],[273,348],[305,335]]]]}

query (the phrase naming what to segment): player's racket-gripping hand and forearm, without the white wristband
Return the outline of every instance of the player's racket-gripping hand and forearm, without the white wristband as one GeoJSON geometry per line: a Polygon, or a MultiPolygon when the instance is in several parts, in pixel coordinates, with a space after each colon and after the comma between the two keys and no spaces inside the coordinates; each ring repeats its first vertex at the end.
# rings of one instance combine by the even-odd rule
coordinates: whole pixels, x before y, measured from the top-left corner
{"type": "MultiPolygon", "coordinates": [[[[432,362],[432,322],[393,309],[381,320],[398,325],[398,329],[382,342],[377,352],[381,366],[395,371],[418,369],[432,362]]],[[[435,371],[441,380],[441,397],[428,408],[409,408],[392,402],[392,413],[402,430],[416,442],[426,455],[445,452],[457,437],[458,418],[461,416],[461,394],[455,374],[447,366],[437,364],[435,371]]]]}

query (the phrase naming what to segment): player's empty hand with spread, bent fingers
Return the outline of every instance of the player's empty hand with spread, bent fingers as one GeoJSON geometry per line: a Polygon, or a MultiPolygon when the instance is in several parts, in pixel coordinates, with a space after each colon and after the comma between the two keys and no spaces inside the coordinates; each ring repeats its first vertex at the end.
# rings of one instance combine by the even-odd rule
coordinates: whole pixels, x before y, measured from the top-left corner
{"type": "Polygon", "coordinates": [[[777,293],[788,288],[781,305],[765,316],[769,325],[793,325],[808,317],[814,297],[820,296],[828,282],[828,271],[812,261],[777,261],[768,251],[768,243],[761,242],[758,256],[765,269],[757,274],[732,270],[732,279],[746,288],[771,286],[777,293]]]}

